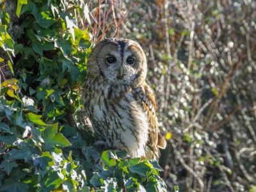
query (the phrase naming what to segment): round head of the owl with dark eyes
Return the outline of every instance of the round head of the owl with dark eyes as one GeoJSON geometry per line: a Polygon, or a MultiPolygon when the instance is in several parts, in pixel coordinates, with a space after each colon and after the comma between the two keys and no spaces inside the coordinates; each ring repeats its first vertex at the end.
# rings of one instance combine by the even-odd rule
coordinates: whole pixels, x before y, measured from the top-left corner
{"type": "Polygon", "coordinates": [[[95,45],[88,61],[88,72],[91,77],[102,77],[111,83],[132,84],[145,80],[147,60],[137,42],[107,38],[95,45]]]}

